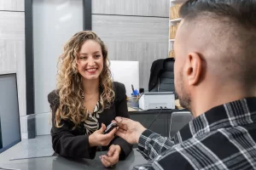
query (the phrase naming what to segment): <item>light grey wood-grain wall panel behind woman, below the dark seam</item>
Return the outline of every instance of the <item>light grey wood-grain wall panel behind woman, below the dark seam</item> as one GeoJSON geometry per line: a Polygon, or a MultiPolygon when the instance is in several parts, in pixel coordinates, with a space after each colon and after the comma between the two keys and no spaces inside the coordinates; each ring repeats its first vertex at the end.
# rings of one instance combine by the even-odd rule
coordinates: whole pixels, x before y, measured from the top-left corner
{"type": "Polygon", "coordinates": [[[148,89],[152,62],[168,57],[168,19],[93,14],[92,30],[107,44],[109,59],[139,61],[140,87],[148,89]]]}

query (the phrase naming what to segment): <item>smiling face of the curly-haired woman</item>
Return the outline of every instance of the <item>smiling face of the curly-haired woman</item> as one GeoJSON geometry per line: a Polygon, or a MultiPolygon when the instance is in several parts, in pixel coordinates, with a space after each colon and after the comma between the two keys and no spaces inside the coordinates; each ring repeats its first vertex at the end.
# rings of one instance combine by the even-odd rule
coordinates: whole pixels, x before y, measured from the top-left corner
{"type": "Polygon", "coordinates": [[[78,70],[85,80],[99,78],[103,69],[101,45],[94,40],[87,40],[81,46],[78,57],[78,70]]]}

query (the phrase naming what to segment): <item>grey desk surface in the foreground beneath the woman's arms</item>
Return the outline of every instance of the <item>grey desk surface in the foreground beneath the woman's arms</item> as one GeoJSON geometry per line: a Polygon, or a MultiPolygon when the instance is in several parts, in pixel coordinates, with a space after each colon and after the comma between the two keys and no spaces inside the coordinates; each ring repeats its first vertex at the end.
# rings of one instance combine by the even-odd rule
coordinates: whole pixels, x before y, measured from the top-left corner
{"type": "MultiPolygon", "coordinates": [[[[20,170],[94,170],[94,169],[106,169],[102,166],[102,162],[99,159],[100,154],[105,152],[98,152],[94,160],[86,159],[67,159],[61,156],[41,157],[25,160],[16,160],[0,163],[1,167],[20,169],[20,170]]],[[[143,156],[137,151],[131,151],[131,154],[125,161],[119,161],[115,166],[108,169],[122,169],[129,170],[132,167],[147,162],[143,156]]]]}

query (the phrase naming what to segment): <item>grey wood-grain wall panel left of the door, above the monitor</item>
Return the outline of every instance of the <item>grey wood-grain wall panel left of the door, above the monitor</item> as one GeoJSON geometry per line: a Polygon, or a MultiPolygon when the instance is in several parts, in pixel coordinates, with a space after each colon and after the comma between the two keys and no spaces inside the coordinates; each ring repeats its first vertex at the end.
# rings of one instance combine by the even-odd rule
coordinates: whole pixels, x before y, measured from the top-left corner
{"type": "Polygon", "coordinates": [[[17,74],[20,116],[26,115],[24,12],[0,11],[0,72],[17,74]]]}

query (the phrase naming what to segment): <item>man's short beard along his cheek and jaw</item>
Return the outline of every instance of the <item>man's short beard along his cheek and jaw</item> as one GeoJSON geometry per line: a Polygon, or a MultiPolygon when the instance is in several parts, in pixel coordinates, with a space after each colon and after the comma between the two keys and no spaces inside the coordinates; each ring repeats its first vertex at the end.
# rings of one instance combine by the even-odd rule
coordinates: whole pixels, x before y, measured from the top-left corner
{"type": "Polygon", "coordinates": [[[191,109],[191,99],[189,93],[185,91],[184,82],[183,82],[183,74],[180,71],[178,74],[177,83],[175,84],[175,92],[177,94],[177,98],[179,99],[179,104],[190,111],[191,109]]]}

